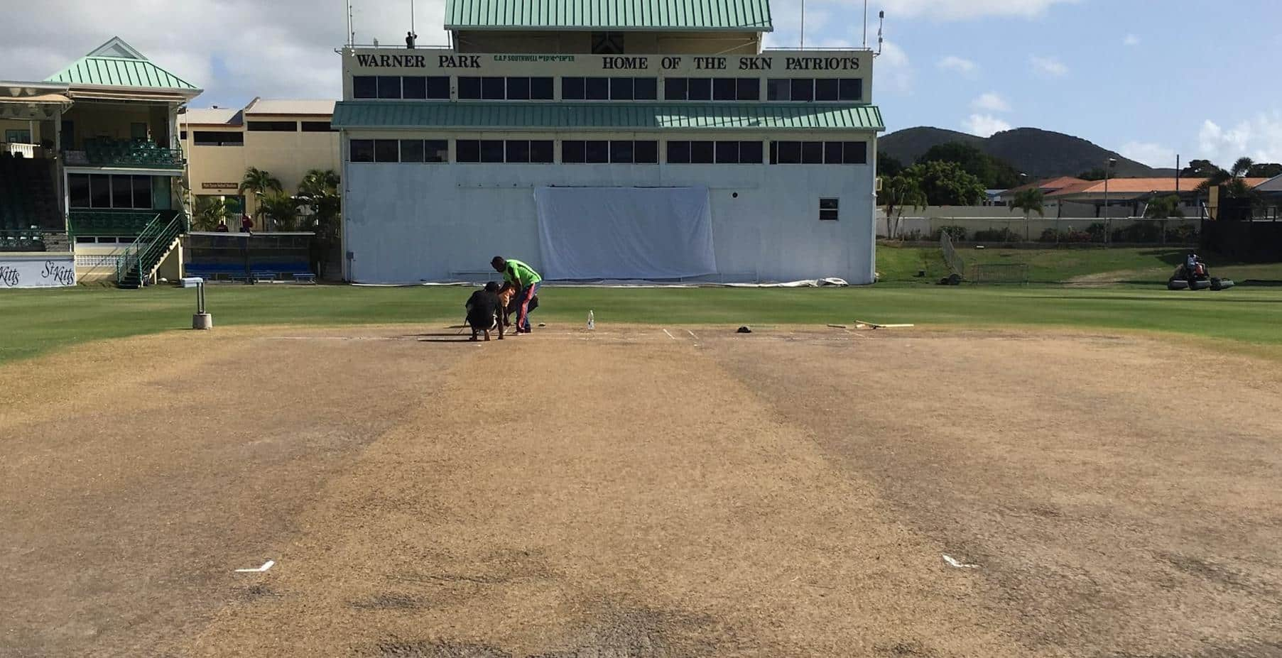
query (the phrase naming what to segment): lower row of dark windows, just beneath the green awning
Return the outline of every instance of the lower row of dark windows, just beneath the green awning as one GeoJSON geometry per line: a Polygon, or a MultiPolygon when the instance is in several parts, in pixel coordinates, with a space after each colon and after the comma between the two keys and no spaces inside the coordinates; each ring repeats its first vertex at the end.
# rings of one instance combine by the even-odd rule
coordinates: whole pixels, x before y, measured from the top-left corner
{"type": "MultiPolygon", "coordinates": [[[[553,140],[455,140],[455,163],[554,163],[553,140]]],[[[669,164],[763,164],[760,141],[667,142],[669,164]]],[[[446,140],[351,140],[353,163],[449,163],[446,140]]],[[[565,164],[659,164],[656,140],[563,140],[565,164]]],[[[868,142],[770,142],[770,164],[868,164],[868,142]]]]}

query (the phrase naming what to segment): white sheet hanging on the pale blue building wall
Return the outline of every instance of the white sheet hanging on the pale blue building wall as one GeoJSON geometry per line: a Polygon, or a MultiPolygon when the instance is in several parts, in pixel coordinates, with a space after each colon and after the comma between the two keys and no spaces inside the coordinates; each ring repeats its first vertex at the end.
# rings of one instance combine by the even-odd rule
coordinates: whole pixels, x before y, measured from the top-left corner
{"type": "Polygon", "coordinates": [[[538,187],[542,275],[681,279],[717,271],[706,187],[538,187]]]}

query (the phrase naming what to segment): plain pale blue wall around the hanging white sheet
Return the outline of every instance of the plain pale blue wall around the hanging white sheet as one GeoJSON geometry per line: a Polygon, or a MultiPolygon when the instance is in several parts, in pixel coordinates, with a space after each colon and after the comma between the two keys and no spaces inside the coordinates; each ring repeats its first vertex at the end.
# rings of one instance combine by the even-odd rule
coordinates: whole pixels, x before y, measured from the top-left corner
{"type": "Polygon", "coordinates": [[[490,259],[538,269],[540,186],[709,188],[718,275],[705,280],[873,280],[870,165],[345,165],[349,277],[483,280],[490,259]],[[819,221],[819,198],[840,220],[819,221]]]}

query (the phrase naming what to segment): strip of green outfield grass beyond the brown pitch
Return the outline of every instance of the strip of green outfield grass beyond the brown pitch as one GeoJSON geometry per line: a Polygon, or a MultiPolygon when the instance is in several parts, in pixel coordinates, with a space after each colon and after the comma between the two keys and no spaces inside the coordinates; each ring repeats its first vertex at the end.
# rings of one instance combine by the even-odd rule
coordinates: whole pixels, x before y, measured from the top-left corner
{"type": "MultiPolygon", "coordinates": [[[[883,251],[885,253],[885,251],[883,251]]],[[[470,291],[455,287],[210,285],[217,326],[255,324],[458,324],[470,291]]],[[[1040,325],[1168,332],[1282,344],[1282,288],[1168,292],[1159,285],[936,287],[883,283],[819,289],[546,288],[536,320],[723,325],[855,319],[924,326],[1040,325]]],[[[0,292],[0,361],[62,346],[185,329],[195,291],[79,287],[0,292]]]]}

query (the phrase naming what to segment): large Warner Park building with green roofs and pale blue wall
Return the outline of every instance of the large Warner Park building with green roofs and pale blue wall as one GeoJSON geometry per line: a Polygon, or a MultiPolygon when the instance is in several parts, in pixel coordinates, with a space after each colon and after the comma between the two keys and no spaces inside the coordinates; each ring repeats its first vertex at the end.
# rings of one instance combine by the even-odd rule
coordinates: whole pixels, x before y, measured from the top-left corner
{"type": "Polygon", "coordinates": [[[346,278],[873,282],[869,50],[763,50],[767,0],[449,0],[342,52],[346,278]]]}

